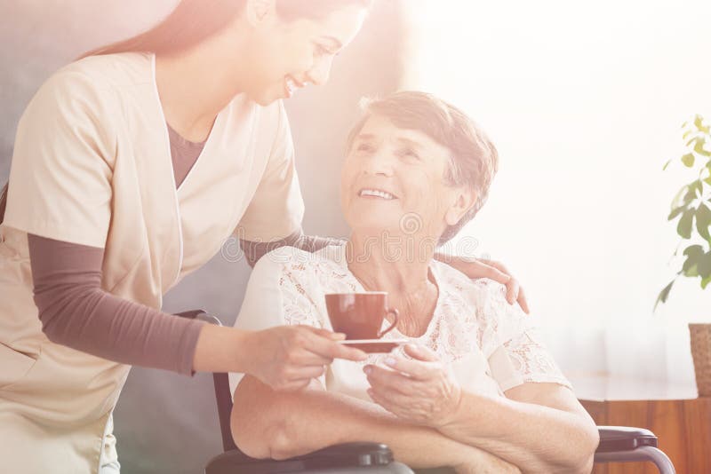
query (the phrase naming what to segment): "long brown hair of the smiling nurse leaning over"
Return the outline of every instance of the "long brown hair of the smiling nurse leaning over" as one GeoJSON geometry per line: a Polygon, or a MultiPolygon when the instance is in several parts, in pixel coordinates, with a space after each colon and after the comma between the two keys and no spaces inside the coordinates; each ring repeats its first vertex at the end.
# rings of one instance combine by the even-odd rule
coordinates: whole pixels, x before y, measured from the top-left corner
{"type": "MultiPolygon", "coordinates": [[[[275,0],[281,20],[319,20],[331,12],[356,4],[367,8],[372,0],[275,0]]],[[[185,51],[226,28],[244,9],[246,0],[181,0],[155,27],[137,36],[85,52],[81,58],[116,52],[185,51]]]]}

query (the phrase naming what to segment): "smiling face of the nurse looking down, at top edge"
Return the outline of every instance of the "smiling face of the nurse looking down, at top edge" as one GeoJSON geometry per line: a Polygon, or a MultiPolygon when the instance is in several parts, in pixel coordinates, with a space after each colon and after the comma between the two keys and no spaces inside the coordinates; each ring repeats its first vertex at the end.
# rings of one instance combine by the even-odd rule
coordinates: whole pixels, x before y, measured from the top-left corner
{"type": "MultiPolygon", "coordinates": [[[[295,0],[287,0],[295,1],[295,0]]],[[[333,58],[356,36],[366,14],[358,4],[327,12],[322,18],[285,21],[274,0],[248,2],[246,20],[252,28],[252,51],[245,51],[249,74],[242,89],[260,105],[289,99],[307,84],[328,81],[333,58]]]]}

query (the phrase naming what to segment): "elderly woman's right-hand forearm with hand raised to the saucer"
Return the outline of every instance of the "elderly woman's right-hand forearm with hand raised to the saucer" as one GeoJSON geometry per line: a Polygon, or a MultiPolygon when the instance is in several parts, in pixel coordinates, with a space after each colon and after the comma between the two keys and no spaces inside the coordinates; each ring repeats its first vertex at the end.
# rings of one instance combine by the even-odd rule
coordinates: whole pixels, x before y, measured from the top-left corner
{"type": "MultiPolygon", "coordinates": [[[[499,328],[505,322],[499,318],[499,328]]],[[[534,365],[532,359],[553,363],[531,334],[524,336],[504,344],[494,356],[509,357],[503,352],[509,351],[523,357],[518,361],[523,366],[534,365]],[[524,340],[528,343],[522,346],[524,340]]],[[[409,358],[391,355],[385,360],[390,369],[371,364],[363,367],[371,383],[371,399],[399,419],[435,428],[448,438],[495,454],[523,472],[592,470],[599,441],[597,428],[556,371],[548,375],[532,367],[517,375],[515,371],[512,374],[520,382],[505,391],[506,397],[500,397],[460,387],[451,367],[426,347],[408,344],[403,355],[409,358]],[[554,380],[560,382],[551,383],[554,380]]],[[[506,373],[500,368],[499,376],[506,373]]]]}

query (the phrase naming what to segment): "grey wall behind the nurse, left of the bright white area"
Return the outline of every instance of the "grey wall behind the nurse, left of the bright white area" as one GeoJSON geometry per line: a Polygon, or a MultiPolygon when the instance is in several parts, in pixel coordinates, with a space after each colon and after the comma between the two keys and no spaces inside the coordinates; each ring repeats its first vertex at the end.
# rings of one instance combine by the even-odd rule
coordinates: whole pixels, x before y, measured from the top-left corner
{"type": "MultiPolygon", "coordinates": [[[[0,0],[0,182],[10,170],[17,122],[57,68],[84,51],[162,19],[177,0],[0,0]]],[[[394,91],[403,69],[399,2],[376,3],[363,31],[335,60],[330,82],[287,101],[308,233],[342,236],[340,161],[363,95],[394,91]]],[[[249,267],[220,255],[180,282],[164,310],[204,308],[234,323],[249,267]]],[[[221,452],[212,377],[133,368],[114,415],[122,471],[195,473],[221,452]]]]}

